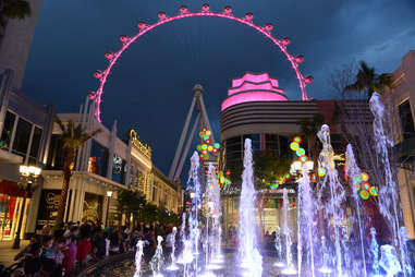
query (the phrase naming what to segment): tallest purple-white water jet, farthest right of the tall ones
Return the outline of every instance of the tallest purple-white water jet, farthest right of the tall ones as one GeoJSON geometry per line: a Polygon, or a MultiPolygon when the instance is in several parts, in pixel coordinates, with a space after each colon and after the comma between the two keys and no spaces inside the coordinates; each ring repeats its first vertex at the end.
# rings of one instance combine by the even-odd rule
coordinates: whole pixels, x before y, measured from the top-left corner
{"type": "MultiPolygon", "coordinates": [[[[374,141],[376,154],[380,160],[385,178],[379,190],[379,210],[386,221],[390,224],[392,243],[400,250],[399,260],[402,264],[402,273],[412,276],[412,268],[406,250],[406,236],[401,233],[402,208],[399,201],[399,186],[395,177],[392,173],[392,165],[389,160],[390,148],[393,141],[385,129],[385,118],[387,117],[385,105],[380,99],[380,95],[374,93],[370,98],[370,110],[374,115],[374,141]]],[[[387,248],[386,248],[387,249],[387,248]]]]}

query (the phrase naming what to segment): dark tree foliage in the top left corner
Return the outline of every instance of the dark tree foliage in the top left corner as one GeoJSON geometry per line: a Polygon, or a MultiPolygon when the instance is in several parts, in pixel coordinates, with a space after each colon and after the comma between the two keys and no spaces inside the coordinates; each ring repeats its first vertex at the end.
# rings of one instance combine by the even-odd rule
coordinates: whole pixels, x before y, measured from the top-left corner
{"type": "Polygon", "coordinates": [[[27,0],[0,1],[0,26],[4,27],[9,19],[24,20],[30,15],[30,4],[27,0]]]}

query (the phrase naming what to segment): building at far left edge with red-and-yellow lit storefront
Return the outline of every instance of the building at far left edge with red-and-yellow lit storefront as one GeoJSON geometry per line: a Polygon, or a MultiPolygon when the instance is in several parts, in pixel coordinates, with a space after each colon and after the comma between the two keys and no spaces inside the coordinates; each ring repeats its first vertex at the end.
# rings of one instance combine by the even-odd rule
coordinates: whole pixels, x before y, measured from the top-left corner
{"type": "MultiPolygon", "coordinates": [[[[27,201],[22,207],[24,190],[19,167],[41,167],[49,153],[53,127],[53,105],[42,106],[16,88],[12,88],[13,71],[0,75],[0,240],[15,236],[19,215],[24,209],[22,234],[34,227],[37,204],[27,201]],[[27,222],[27,224],[26,224],[27,222]]],[[[30,200],[38,198],[41,178],[34,183],[30,200]]]]}

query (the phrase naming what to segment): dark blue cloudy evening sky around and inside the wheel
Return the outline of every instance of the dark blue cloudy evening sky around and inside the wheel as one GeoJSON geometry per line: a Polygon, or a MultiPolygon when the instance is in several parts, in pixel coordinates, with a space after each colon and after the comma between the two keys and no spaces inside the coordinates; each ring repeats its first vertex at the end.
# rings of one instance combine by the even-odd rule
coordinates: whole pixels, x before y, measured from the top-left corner
{"type": "MultiPolygon", "coordinates": [[[[106,51],[121,47],[120,35],[134,35],[138,21],[157,13],[179,13],[182,4],[200,11],[199,0],[44,0],[23,89],[58,112],[77,112],[98,87],[93,73],[106,69],[106,51]]],[[[392,72],[415,49],[414,0],[211,0],[212,11],[254,13],[254,23],[274,25],[289,36],[289,51],[303,53],[307,87],[317,99],[333,98],[328,79],[344,64],[365,60],[392,72]]],[[[285,56],[255,29],[216,17],[175,21],[133,44],[112,70],[103,95],[103,123],[118,120],[119,134],[130,128],[154,148],[154,161],[168,173],[196,83],[205,87],[209,118],[219,136],[220,104],[231,80],[246,71],[268,72],[289,99],[300,99],[294,71],[285,56]]]]}

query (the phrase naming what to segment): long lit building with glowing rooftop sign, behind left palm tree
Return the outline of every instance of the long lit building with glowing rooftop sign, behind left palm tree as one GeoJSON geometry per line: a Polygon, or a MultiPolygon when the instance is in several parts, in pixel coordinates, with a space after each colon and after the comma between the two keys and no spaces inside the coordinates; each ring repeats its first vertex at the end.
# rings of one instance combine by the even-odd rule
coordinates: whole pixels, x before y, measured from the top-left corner
{"type": "MultiPolygon", "coordinates": [[[[64,220],[124,224],[124,218],[120,218],[117,213],[117,194],[121,190],[139,191],[148,203],[179,213],[181,189],[155,167],[151,148],[139,141],[134,130],[131,131],[130,137],[121,140],[117,136],[117,121],[113,122],[111,130],[107,129],[94,117],[94,105],[88,104],[88,100],[85,105],[87,108],[81,113],[58,115],[62,122],[72,119],[83,124],[88,132],[100,130],[77,154],[64,220]]],[[[56,123],[51,150],[42,171],[45,181],[40,200],[56,201],[50,210],[44,210],[37,216],[37,229],[46,220],[53,220],[57,215],[57,202],[63,182],[60,135],[61,130],[56,123]]]]}

